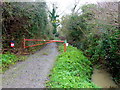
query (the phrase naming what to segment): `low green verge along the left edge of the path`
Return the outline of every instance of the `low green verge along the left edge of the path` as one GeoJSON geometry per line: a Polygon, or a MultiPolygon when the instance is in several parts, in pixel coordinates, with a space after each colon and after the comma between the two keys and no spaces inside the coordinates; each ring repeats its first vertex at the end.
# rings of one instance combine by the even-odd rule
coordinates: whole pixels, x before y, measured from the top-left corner
{"type": "Polygon", "coordinates": [[[0,54],[0,73],[4,73],[7,69],[9,69],[10,66],[16,64],[17,62],[24,61],[28,57],[28,55],[34,54],[42,47],[44,47],[44,45],[31,47],[27,51],[28,54],[23,53],[23,55],[13,54],[9,51],[7,51],[5,54],[0,54]]]}

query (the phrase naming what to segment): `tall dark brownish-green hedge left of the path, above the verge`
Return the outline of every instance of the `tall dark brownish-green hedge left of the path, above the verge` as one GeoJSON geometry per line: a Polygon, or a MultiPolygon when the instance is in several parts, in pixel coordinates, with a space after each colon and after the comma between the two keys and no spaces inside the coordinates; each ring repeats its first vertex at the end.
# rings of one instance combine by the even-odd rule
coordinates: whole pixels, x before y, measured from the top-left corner
{"type": "MultiPolygon", "coordinates": [[[[15,42],[16,52],[19,52],[23,49],[23,38],[49,39],[52,37],[49,35],[46,9],[45,2],[4,2],[2,4],[3,49],[10,49],[11,40],[15,42]]],[[[36,42],[31,42],[29,45],[33,44],[36,42]]]]}

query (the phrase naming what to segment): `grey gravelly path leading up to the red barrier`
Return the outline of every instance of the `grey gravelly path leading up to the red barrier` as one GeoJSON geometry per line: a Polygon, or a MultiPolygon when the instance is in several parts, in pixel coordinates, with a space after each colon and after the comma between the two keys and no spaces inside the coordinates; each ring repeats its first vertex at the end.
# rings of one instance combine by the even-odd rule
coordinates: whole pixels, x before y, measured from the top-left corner
{"type": "Polygon", "coordinates": [[[2,76],[3,88],[44,88],[58,54],[56,44],[51,43],[12,66],[2,76]]]}

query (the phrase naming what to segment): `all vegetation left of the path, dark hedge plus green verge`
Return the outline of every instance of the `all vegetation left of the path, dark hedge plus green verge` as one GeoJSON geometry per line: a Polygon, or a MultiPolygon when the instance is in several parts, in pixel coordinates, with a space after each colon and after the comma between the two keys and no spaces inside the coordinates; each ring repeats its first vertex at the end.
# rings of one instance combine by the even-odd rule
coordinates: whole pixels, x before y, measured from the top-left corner
{"type": "MultiPolygon", "coordinates": [[[[50,39],[46,2],[3,2],[2,4],[2,68],[6,70],[10,65],[23,59],[20,54],[29,54],[42,46],[23,48],[23,39],[50,39]],[[15,47],[10,47],[14,41],[15,47]],[[7,53],[9,52],[9,53],[7,53]]],[[[27,41],[26,45],[41,42],[27,41]]]]}

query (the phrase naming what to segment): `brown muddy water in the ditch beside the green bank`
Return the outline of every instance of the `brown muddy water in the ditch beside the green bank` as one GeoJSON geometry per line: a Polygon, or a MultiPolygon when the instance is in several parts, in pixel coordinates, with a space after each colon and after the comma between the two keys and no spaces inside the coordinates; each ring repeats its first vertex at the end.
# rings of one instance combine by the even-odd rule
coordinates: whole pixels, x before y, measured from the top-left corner
{"type": "Polygon", "coordinates": [[[102,88],[118,87],[112,80],[111,75],[105,69],[96,69],[94,67],[92,82],[102,88]]]}

